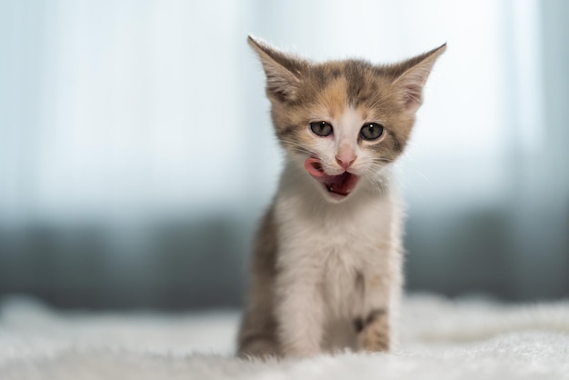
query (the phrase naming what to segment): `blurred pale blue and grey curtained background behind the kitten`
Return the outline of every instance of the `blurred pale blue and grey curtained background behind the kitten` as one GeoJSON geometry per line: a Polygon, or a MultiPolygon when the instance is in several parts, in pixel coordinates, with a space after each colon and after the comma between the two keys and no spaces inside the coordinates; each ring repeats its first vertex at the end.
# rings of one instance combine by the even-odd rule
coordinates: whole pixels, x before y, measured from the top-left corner
{"type": "Polygon", "coordinates": [[[448,43],[397,166],[407,290],[569,295],[569,2],[0,0],[0,296],[242,305],[282,155],[246,35],[448,43]]]}

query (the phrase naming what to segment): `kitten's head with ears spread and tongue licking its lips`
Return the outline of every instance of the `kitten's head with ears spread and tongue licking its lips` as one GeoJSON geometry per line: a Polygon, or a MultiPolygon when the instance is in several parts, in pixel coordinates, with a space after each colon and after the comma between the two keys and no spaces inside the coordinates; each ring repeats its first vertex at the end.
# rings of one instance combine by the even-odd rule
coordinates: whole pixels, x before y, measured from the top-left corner
{"type": "Polygon", "coordinates": [[[402,154],[442,45],[395,65],[315,64],[249,37],[276,136],[325,199],[344,200],[402,154]]]}

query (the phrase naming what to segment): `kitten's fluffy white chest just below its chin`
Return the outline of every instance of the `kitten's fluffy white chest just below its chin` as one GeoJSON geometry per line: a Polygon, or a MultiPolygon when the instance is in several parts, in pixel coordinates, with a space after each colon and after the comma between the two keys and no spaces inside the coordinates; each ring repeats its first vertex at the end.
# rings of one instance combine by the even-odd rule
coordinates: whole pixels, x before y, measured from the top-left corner
{"type": "Polygon", "coordinates": [[[284,200],[277,202],[276,211],[279,264],[299,277],[317,279],[331,299],[350,299],[364,273],[384,263],[381,247],[390,238],[393,220],[387,202],[310,210],[284,200]]]}

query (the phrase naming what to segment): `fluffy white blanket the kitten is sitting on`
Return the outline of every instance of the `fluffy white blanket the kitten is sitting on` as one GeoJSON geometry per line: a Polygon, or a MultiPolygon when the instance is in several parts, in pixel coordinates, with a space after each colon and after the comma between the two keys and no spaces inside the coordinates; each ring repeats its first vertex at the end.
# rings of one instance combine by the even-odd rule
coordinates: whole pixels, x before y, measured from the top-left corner
{"type": "Polygon", "coordinates": [[[504,305],[414,295],[393,354],[233,356],[238,315],[62,313],[0,305],[0,378],[569,379],[569,301],[504,305]]]}

